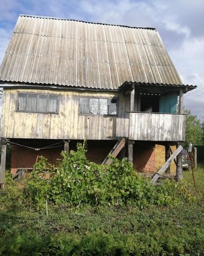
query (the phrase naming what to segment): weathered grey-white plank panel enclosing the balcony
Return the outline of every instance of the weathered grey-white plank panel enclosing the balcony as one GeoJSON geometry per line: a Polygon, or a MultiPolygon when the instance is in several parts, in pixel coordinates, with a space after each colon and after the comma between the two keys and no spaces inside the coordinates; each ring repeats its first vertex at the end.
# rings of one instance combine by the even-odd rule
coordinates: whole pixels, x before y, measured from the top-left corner
{"type": "Polygon", "coordinates": [[[130,113],[129,139],[184,141],[185,115],[130,113]]]}

